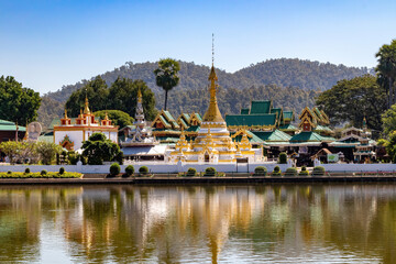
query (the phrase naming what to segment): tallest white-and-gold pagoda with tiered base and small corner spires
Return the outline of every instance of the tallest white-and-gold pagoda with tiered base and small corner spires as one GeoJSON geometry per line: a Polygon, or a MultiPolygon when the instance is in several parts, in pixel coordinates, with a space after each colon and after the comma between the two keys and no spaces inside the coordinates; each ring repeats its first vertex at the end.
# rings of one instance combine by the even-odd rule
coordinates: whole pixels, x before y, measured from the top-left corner
{"type": "Polygon", "coordinates": [[[188,141],[184,129],[182,129],[175,150],[166,153],[165,161],[187,163],[233,163],[237,162],[237,158],[248,158],[249,162],[262,161],[262,148],[252,148],[245,133],[240,142],[234,142],[231,139],[217,102],[216,81],[218,77],[213,65],[208,80],[210,81],[210,101],[200,122],[197,136],[188,141]]]}

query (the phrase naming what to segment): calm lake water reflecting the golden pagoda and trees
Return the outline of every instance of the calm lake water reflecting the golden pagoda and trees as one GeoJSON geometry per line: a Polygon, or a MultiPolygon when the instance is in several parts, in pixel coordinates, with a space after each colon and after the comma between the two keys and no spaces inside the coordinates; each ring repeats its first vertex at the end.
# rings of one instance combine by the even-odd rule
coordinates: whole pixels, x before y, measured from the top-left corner
{"type": "Polygon", "coordinates": [[[396,185],[1,186],[1,263],[396,263],[396,185]]]}

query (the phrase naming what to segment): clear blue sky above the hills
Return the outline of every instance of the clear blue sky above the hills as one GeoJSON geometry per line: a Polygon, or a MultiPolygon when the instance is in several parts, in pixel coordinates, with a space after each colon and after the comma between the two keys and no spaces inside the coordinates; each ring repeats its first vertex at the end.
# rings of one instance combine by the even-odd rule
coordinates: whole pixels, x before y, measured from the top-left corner
{"type": "Polygon", "coordinates": [[[0,75],[41,94],[125,62],[173,57],[235,72],[270,58],[376,65],[396,1],[0,0],[0,75]]]}

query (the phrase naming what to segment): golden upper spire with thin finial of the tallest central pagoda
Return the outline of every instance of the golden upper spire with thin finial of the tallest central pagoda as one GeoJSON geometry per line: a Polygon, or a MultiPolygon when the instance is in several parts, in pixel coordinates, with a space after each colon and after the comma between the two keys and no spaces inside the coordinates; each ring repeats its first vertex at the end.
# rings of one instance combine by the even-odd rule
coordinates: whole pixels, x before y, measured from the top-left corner
{"type": "Polygon", "coordinates": [[[217,103],[217,97],[216,97],[216,90],[218,87],[216,81],[218,80],[218,77],[215,72],[215,45],[213,45],[213,43],[215,43],[215,38],[212,38],[212,66],[211,66],[209,78],[208,78],[208,80],[210,81],[210,87],[209,87],[210,100],[209,100],[208,110],[204,116],[204,122],[222,122],[222,123],[224,123],[224,120],[221,117],[221,113],[220,113],[220,110],[219,110],[219,107],[217,103]]]}

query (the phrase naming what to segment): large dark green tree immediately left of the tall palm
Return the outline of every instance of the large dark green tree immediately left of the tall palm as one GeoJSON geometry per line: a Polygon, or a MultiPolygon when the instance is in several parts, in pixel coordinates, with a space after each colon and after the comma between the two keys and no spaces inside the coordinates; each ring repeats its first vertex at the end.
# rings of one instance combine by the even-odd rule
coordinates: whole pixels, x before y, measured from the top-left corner
{"type": "Polygon", "coordinates": [[[136,111],[139,89],[143,97],[144,117],[153,120],[156,116],[154,92],[146,82],[140,79],[118,77],[109,89],[108,109],[124,111],[133,118],[136,111]]]}

